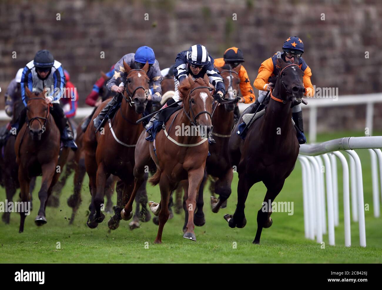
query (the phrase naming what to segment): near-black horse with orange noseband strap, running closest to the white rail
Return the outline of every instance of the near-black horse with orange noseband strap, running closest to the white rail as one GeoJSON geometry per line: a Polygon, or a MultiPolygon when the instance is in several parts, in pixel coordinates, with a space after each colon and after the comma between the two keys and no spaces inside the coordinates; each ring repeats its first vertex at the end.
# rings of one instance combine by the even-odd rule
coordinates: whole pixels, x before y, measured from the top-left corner
{"type": "MultiPolygon", "coordinates": [[[[277,59],[277,67],[280,72],[265,114],[249,127],[244,140],[236,133],[240,122],[236,124],[230,138],[231,162],[237,166],[239,174],[235,214],[225,215],[231,228],[243,228],[246,225],[244,206],[254,183],[262,181],[267,187],[264,202],[268,204],[280,193],[285,179],[295,167],[299,144],[296,129],[291,123],[291,104],[300,103],[305,92],[303,71],[298,65],[286,63],[282,59],[277,59]]],[[[249,110],[251,107],[244,113],[249,110]]],[[[260,243],[262,229],[272,225],[271,214],[262,209],[257,212],[254,244],[260,243]]]]}

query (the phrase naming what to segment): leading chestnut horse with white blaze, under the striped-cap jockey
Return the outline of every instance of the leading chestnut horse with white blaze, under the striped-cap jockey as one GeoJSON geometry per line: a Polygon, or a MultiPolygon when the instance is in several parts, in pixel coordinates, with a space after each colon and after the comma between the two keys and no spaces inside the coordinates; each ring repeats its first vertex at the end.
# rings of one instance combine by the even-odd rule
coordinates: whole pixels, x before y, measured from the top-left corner
{"type": "MultiPolygon", "coordinates": [[[[133,201],[138,188],[144,181],[145,166],[150,158],[157,165],[157,172],[149,180],[153,185],[159,183],[160,204],[149,202],[154,215],[159,215],[158,234],[155,243],[162,243],[163,227],[168,220],[170,212],[168,202],[170,191],[174,190],[182,180],[188,180],[189,186],[185,193],[189,218],[183,237],[196,241],[194,233],[194,210],[196,209],[196,196],[204,175],[206,158],[208,154],[207,138],[202,139],[199,134],[176,134],[176,127],[189,126],[191,128],[205,129],[209,134],[212,130],[211,112],[213,97],[209,91],[209,79],[193,80],[191,76],[183,80],[178,86],[179,94],[183,100],[183,110],[173,113],[166,122],[166,128],[157,133],[154,142],[147,142],[147,133],[142,131],[135,150],[134,190],[129,202],[121,211],[121,217],[128,220],[132,215],[133,201]],[[172,125],[170,125],[172,124],[172,125]],[[174,129],[171,131],[171,129],[174,129]],[[167,131],[168,130],[168,133],[167,131]],[[190,136],[191,135],[191,136],[190,136]],[[154,151],[155,146],[155,151],[154,151]]],[[[205,136],[207,137],[207,136],[205,136]]]]}

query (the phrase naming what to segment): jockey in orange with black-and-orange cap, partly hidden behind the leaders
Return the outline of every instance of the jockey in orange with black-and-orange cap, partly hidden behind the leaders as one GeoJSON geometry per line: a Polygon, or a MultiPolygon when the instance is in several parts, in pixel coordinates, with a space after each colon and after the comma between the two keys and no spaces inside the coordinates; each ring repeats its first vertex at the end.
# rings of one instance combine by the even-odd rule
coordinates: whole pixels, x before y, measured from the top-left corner
{"type": "MultiPolygon", "coordinates": [[[[244,55],[241,50],[237,47],[230,47],[224,52],[223,58],[215,59],[215,67],[223,67],[225,64],[230,65],[231,69],[235,69],[241,65],[239,70],[240,77],[240,92],[243,97],[240,99],[240,103],[253,103],[255,100],[255,94],[251,86],[251,81],[249,81],[247,70],[244,68],[242,63],[244,62],[244,55]]],[[[239,107],[235,106],[235,119],[238,120],[240,117],[239,107]]],[[[235,122],[236,123],[236,122],[235,122]]]]}

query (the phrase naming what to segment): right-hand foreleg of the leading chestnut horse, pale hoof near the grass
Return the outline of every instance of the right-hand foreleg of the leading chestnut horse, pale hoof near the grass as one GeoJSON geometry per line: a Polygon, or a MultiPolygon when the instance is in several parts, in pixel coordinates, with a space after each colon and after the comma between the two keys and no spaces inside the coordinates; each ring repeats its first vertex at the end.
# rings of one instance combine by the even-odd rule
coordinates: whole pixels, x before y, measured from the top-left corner
{"type": "Polygon", "coordinates": [[[186,225],[186,232],[184,238],[196,241],[194,233],[194,212],[196,207],[196,194],[199,190],[204,176],[204,168],[190,170],[188,172],[188,198],[186,200],[186,207],[188,210],[188,223],[186,225]]]}

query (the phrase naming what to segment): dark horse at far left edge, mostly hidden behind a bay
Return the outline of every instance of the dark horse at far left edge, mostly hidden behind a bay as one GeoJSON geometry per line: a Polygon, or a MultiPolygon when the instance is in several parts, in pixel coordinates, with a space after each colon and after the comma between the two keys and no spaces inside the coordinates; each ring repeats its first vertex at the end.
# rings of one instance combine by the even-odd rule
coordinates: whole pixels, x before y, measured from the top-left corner
{"type": "MultiPolygon", "coordinates": [[[[18,122],[18,116],[20,115],[21,110],[24,108],[24,104],[21,99],[16,101],[13,104],[13,114],[12,120],[10,124],[16,124],[18,122]]],[[[6,199],[8,202],[11,202],[13,196],[16,193],[16,188],[19,188],[19,179],[18,179],[18,164],[16,163],[16,155],[15,155],[15,140],[16,135],[11,134],[6,140],[5,144],[1,148],[0,154],[0,168],[1,168],[1,181],[2,185],[5,188],[6,199]]],[[[31,207],[32,207],[32,192],[34,190],[34,185],[36,182],[36,177],[31,178],[31,182],[29,184],[29,195],[31,197],[31,207]]],[[[9,223],[10,221],[10,212],[4,212],[2,215],[2,220],[5,223],[9,223]]]]}

